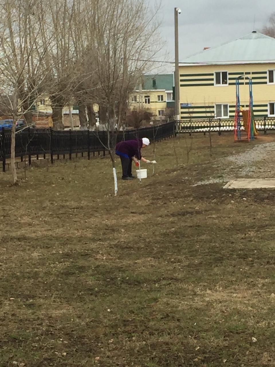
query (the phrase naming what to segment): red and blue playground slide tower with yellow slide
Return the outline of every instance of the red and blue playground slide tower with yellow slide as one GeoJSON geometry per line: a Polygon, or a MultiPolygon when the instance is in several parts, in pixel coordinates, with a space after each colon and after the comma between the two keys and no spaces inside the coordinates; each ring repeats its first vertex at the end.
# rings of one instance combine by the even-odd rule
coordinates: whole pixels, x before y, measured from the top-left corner
{"type": "MultiPolygon", "coordinates": [[[[245,83],[244,83],[245,84],[245,83]]],[[[241,75],[236,79],[236,108],[234,117],[234,139],[235,141],[250,141],[256,138],[258,131],[256,129],[253,113],[253,94],[252,79],[247,75],[241,75]],[[240,104],[240,84],[241,78],[249,80],[249,107],[242,109],[240,104]]]]}

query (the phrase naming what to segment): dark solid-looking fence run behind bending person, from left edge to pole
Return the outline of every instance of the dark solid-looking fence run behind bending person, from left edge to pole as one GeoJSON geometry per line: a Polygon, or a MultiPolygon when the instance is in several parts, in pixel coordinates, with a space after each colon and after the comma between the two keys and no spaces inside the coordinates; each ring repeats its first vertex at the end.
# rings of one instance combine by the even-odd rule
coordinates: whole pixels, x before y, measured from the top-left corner
{"type": "MultiPolygon", "coordinates": [[[[176,123],[171,121],[159,126],[140,128],[138,130],[120,131],[117,142],[136,138],[149,138],[151,141],[160,141],[172,137],[175,132],[176,123]]],[[[54,163],[54,155],[69,155],[72,159],[73,153],[105,152],[108,146],[108,134],[106,131],[54,131],[52,129],[26,128],[18,131],[15,135],[15,156],[28,156],[29,165],[31,157],[46,154],[51,156],[54,163]]],[[[11,155],[11,130],[0,131],[0,161],[3,162],[3,172],[6,171],[6,159],[11,155]]]]}

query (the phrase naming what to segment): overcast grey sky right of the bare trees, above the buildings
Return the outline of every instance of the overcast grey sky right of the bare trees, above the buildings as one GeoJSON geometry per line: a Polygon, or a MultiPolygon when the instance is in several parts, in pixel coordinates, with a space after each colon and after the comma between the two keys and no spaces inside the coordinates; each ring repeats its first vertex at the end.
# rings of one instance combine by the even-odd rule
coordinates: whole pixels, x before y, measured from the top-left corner
{"type": "MultiPolygon", "coordinates": [[[[155,0],[149,0],[154,4],[155,0]]],[[[260,30],[275,12],[274,0],[162,0],[159,18],[169,61],[174,61],[174,8],[179,7],[179,61],[203,47],[218,46],[260,30]]],[[[167,65],[161,72],[171,72],[167,65]]]]}

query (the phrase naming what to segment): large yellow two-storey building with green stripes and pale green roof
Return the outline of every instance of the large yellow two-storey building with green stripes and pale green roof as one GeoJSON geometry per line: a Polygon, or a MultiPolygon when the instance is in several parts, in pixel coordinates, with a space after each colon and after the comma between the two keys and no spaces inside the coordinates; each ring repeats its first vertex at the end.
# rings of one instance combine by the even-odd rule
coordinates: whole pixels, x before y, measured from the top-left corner
{"type": "Polygon", "coordinates": [[[234,118],[236,78],[240,102],[249,105],[252,79],[255,117],[275,117],[275,39],[246,34],[217,47],[207,48],[179,63],[181,119],[234,118]]]}

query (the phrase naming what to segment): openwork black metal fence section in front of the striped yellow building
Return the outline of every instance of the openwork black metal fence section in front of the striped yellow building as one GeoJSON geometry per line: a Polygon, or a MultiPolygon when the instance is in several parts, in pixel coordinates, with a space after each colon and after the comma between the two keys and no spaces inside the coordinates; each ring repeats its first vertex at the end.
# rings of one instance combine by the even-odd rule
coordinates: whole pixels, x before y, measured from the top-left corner
{"type": "MultiPolygon", "coordinates": [[[[256,117],[255,124],[258,131],[275,130],[275,117],[256,117]]],[[[221,134],[222,131],[233,131],[234,130],[234,119],[188,119],[180,121],[180,132],[218,132],[221,134]]]]}

